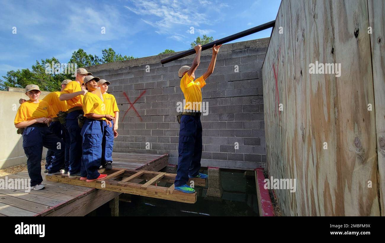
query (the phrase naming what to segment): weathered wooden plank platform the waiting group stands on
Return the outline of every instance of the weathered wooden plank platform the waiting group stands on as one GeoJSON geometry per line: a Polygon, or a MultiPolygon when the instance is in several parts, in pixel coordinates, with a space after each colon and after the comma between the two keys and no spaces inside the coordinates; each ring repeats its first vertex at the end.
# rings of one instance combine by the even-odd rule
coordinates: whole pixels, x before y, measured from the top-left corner
{"type": "MultiPolygon", "coordinates": [[[[168,164],[167,154],[112,153],[112,157],[112,165],[118,169],[159,171],[168,164]]],[[[44,168],[44,190],[0,189],[0,216],[84,216],[121,194],[48,181],[43,172],[44,168]]],[[[29,178],[27,171],[0,179],[6,177],[8,180],[29,178]]]]}

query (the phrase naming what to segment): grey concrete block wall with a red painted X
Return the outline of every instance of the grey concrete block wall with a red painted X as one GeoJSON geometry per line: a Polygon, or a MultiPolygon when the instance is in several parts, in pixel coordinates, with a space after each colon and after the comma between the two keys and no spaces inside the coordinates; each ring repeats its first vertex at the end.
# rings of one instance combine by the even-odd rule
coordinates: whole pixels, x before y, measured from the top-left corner
{"type": "MultiPolygon", "coordinates": [[[[261,68],[268,42],[269,38],[237,42],[219,50],[214,73],[202,89],[203,102],[208,102],[208,115],[201,117],[202,166],[266,167],[261,68]]],[[[202,52],[197,78],[207,70],[211,54],[211,49],[202,52]]],[[[86,67],[111,82],[108,93],[121,111],[114,151],[168,153],[169,163],[177,164],[176,107],[184,99],[177,72],[183,65],[191,66],[194,56],[160,63],[171,55],[86,67]]]]}

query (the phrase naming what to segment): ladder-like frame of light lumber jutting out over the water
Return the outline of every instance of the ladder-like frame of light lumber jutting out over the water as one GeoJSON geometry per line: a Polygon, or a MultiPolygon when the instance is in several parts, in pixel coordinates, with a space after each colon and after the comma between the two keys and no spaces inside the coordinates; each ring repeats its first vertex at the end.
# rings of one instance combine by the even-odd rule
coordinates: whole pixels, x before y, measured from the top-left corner
{"type": "MultiPolygon", "coordinates": [[[[161,198],[183,203],[196,202],[196,192],[183,193],[181,191],[174,190],[174,184],[172,184],[172,186],[169,188],[154,185],[158,181],[173,183],[175,181],[176,174],[146,170],[125,170],[117,168],[112,168],[111,170],[101,169],[99,170],[99,173],[107,174],[107,177],[92,182],[81,181],[79,178],[70,179],[68,176],[63,175],[46,175],[45,178],[48,181],[55,181],[70,185],[92,187],[140,196],[149,196],[153,198],[161,198]],[[147,180],[147,182],[141,184],[143,180],[147,180]]],[[[190,178],[189,183],[191,183],[191,181],[194,181],[195,186],[206,185],[206,179],[190,178]]]]}

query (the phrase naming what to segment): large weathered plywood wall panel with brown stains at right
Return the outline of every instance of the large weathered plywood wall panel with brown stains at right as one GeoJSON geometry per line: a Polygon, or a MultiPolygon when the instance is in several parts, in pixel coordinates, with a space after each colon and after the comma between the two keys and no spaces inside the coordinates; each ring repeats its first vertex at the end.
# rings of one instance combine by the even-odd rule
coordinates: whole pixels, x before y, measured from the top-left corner
{"type": "Polygon", "coordinates": [[[368,26],[367,1],[281,3],[262,72],[269,176],[296,179],[275,190],[283,215],[380,215],[368,26]],[[316,61],[340,77],[309,73],[316,61]]]}

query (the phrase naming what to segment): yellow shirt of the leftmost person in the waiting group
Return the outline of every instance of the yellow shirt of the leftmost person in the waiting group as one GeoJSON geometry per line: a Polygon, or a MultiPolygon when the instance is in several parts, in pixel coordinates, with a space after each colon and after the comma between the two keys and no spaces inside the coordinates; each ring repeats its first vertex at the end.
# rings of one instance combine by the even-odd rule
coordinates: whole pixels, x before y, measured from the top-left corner
{"type": "Polygon", "coordinates": [[[15,117],[15,125],[22,121],[31,121],[33,119],[49,117],[49,104],[44,100],[39,103],[33,103],[30,100],[22,103],[17,110],[15,117]]]}

